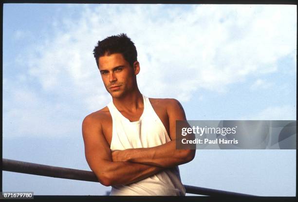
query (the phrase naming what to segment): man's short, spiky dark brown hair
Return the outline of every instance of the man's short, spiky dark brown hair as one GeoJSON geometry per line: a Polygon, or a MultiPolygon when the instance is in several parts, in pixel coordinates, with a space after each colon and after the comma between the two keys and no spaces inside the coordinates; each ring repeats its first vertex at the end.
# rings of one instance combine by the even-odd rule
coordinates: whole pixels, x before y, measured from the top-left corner
{"type": "Polygon", "coordinates": [[[93,50],[93,55],[96,60],[97,67],[99,68],[98,58],[104,55],[111,55],[119,53],[122,54],[124,59],[129,62],[130,66],[137,61],[137,51],[134,43],[126,34],[106,37],[102,41],[98,41],[97,46],[93,50]]]}

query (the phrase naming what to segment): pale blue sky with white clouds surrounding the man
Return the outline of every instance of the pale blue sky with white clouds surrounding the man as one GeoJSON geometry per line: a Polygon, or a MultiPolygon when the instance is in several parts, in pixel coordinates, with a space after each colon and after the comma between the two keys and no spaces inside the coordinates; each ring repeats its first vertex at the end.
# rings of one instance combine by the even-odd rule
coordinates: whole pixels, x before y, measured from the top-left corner
{"type": "MultiPolygon", "coordinates": [[[[295,5],[4,4],[3,158],[90,170],[83,118],[110,100],[93,47],[127,33],[149,97],[189,120],[296,120],[295,5]]],[[[295,196],[296,150],[198,150],[183,184],[295,196]],[[192,173],[192,174],[189,174],[192,173]]],[[[98,183],[3,171],[4,191],[104,195],[98,183]]]]}

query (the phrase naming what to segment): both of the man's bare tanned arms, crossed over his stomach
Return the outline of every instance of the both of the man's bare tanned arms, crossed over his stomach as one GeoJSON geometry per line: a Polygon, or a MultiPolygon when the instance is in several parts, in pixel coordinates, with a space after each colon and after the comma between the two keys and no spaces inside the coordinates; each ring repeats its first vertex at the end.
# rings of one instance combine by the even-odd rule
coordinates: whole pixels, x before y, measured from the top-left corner
{"type": "Polygon", "coordinates": [[[110,186],[134,183],[194,158],[195,150],[176,149],[175,121],[186,120],[186,117],[177,100],[171,99],[170,102],[167,112],[171,141],[157,147],[111,152],[101,125],[94,124],[91,117],[84,119],[82,133],[86,160],[101,184],[110,186]]]}

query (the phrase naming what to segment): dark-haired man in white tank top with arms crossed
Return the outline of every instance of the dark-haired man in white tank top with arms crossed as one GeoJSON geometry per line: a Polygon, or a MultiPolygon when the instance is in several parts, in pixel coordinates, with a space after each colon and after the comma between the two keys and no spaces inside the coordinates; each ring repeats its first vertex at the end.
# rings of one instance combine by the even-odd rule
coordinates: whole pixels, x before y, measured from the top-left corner
{"type": "Polygon", "coordinates": [[[94,57],[112,101],[85,117],[86,160],[111,195],[185,196],[178,165],[195,150],[176,149],[175,121],[186,120],[175,99],[148,98],[138,89],[134,43],[125,34],[98,41],[94,57]]]}

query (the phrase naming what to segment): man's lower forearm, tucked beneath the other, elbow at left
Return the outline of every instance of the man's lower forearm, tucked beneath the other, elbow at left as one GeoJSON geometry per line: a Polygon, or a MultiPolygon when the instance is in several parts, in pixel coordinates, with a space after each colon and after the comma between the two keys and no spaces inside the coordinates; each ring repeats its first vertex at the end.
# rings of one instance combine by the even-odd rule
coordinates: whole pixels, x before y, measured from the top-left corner
{"type": "Polygon", "coordinates": [[[162,171],[163,167],[131,162],[106,161],[104,175],[106,185],[123,185],[143,180],[162,171]]]}

